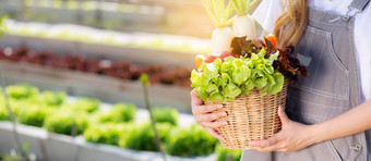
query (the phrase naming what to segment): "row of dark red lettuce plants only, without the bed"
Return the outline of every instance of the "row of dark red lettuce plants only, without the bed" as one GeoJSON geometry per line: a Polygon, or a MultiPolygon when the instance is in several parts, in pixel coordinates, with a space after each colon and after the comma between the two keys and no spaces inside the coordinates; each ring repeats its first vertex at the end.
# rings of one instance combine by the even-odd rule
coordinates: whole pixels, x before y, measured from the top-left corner
{"type": "Polygon", "coordinates": [[[128,61],[94,60],[80,57],[82,54],[58,55],[52,51],[35,51],[26,47],[0,47],[0,60],[27,62],[41,66],[75,70],[121,79],[136,81],[147,73],[152,84],[176,85],[190,87],[188,69],[165,67],[164,65],[143,65],[128,61]]]}

